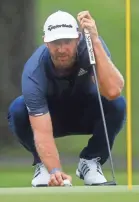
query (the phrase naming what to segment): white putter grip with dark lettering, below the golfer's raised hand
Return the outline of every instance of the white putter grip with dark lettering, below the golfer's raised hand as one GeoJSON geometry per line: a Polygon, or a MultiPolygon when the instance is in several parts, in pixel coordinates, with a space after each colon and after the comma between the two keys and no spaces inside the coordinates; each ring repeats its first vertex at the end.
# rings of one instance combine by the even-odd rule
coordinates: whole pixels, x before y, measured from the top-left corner
{"type": "Polygon", "coordinates": [[[94,56],[94,50],[93,50],[93,45],[92,45],[92,40],[90,37],[90,33],[87,29],[84,29],[84,35],[85,35],[85,40],[86,40],[86,45],[87,45],[87,50],[89,54],[89,60],[91,65],[95,65],[95,56],[94,56]]]}

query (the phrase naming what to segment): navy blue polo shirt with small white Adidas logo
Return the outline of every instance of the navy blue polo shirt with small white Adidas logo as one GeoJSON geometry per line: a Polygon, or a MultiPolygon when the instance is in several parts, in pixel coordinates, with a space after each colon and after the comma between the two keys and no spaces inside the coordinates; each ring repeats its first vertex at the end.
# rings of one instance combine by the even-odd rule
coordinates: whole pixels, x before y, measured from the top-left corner
{"type": "MultiPolygon", "coordinates": [[[[100,38],[103,48],[110,57],[110,52],[100,38]]],[[[82,35],[74,64],[74,71],[69,76],[58,76],[48,48],[41,45],[26,62],[22,73],[22,94],[28,113],[39,116],[48,112],[59,112],[72,108],[85,100],[91,93],[93,75],[85,38],[82,35]]]]}

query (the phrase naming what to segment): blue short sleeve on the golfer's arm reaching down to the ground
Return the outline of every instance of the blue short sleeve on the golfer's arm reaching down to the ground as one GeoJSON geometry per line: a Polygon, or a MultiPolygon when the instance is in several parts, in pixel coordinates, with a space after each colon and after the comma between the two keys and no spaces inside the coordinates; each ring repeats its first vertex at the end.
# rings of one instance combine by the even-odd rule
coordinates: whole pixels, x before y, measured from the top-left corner
{"type": "Polygon", "coordinates": [[[22,76],[22,94],[29,115],[41,116],[48,113],[47,100],[38,83],[27,75],[22,76]]]}

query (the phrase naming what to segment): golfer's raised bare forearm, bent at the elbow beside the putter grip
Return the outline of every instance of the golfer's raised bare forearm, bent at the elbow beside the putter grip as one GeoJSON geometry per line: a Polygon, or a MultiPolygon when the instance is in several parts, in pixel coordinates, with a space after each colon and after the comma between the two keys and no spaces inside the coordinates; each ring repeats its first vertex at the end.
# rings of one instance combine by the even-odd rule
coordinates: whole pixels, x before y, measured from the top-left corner
{"type": "Polygon", "coordinates": [[[114,99],[120,95],[124,86],[124,79],[108,58],[99,39],[93,42],[93,47],[101,93],[108,99],[114,99]]]}

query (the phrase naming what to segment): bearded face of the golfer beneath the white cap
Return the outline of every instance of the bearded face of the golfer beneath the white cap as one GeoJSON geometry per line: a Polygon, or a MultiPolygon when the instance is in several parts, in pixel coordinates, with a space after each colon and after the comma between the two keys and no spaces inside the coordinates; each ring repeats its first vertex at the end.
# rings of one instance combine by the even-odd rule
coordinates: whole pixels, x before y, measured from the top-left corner
{"type": "Polygon", "coordinates": [[[75,62],[79,39],[59,39],[47,43],[55,69],[68,72],[75,62]]]}

